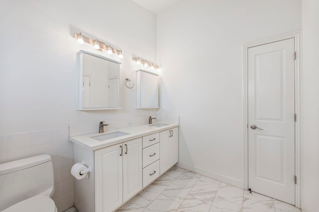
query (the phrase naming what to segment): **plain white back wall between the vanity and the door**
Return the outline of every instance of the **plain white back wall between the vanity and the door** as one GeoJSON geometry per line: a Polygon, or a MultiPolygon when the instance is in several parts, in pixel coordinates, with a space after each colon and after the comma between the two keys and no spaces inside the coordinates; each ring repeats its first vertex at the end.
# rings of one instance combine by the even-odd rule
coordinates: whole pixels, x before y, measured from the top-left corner
{"type": "Polygon", "coordinates": [[[300,0],[183,0],[157,17],[162,114],[179,165],[243,186],[242,47],[301,29],[300,0]]]}

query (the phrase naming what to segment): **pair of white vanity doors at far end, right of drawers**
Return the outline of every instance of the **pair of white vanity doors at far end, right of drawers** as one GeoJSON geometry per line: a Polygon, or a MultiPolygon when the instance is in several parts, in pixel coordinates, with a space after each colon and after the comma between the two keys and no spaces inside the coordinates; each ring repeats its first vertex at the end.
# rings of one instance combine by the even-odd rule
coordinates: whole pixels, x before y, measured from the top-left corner
{"type": "Polygon", "coordinates": [[[160,132],[160,174],[178,162],[178,128],[160,132]]]}

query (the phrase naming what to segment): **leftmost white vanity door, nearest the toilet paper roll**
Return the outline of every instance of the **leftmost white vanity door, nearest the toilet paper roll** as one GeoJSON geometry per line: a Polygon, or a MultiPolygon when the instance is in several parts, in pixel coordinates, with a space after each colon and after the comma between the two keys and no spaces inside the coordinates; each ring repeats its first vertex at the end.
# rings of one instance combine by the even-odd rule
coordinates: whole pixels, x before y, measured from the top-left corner
{"type": "Polygon", "coordinates": [[[94,152],[95,212],[113,212],[123,203],[123,144],[94,152]]]}

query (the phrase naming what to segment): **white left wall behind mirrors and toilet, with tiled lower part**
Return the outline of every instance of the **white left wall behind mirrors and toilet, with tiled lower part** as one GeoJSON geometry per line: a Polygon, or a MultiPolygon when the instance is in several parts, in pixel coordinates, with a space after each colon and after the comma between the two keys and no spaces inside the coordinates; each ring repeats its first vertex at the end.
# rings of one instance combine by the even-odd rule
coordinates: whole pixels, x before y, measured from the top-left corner
{"type": "Polygon", "coordinates": [[[131,0],[1,1],[0,163],[52,155],[57,184],[53,198],[59,211],[73,205],[73,181],[68,174],[72,163],[66,162],[73,149],[67,141],[69,123],[98,125],[101,120],[136,116],[145,117],[147,123],[147,117],[157,111],[136,110],[136,90],[124,85],[125,77],[135,81],[139,68],[132,54],[150,61],[157,57],[156,15],[131,0]],[[79,45],[74,32],[123,49],[121,110],[76,110],[76,52],[99,52],[91,45],[79,45]]]}

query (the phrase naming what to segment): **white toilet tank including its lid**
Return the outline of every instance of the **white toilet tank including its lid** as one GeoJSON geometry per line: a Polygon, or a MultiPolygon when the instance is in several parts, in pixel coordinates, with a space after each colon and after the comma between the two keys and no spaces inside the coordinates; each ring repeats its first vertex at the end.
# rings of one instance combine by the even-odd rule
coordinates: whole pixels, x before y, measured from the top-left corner
{"type": "Polygon", "coordinates": [[[50,155],[0,164],[0,211],[38,194],[52,197],[54,173],[50,155]]]}

